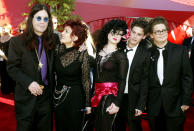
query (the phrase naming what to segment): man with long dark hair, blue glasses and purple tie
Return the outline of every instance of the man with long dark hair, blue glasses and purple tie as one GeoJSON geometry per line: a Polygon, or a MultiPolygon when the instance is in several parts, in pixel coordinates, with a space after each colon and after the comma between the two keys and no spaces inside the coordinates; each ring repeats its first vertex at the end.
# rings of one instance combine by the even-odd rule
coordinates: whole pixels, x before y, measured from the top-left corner
{"type": "Polygon", "coordinates": [[[8,73],[16,81],[17,131],[51,131],[53,48],[59,38],[47,6],[36,4],[23,34],[10,41],[8,73]]]}

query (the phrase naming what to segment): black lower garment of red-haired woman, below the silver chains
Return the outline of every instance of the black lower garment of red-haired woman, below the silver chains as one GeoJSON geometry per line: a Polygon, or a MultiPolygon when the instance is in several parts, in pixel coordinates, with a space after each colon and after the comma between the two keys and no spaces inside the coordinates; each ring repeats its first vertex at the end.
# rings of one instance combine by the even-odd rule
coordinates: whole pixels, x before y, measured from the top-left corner
{"type": "Polygon", "coordinates": [[[80,86],[71,87],[66,99],[55,108],[56,131],[81,131],[84,124],[84,107],[80,86]]]}

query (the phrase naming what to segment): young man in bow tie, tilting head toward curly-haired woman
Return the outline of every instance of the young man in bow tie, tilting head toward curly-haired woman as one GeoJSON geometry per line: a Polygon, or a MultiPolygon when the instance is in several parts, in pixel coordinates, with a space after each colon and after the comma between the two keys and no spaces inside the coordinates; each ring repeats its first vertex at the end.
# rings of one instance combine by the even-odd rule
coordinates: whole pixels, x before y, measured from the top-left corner
{"type": "Polygon", "coordinates": [[[128,122],[130,131],[142,131],[140,115],[143,113],[148,91],[149,52],[145,39],[148,22],[137,18],[131,24],[130,37],[124,50],[128,58],[126,86],[120,110],[116,118],[116,130],[126,131],[128,122]]]}

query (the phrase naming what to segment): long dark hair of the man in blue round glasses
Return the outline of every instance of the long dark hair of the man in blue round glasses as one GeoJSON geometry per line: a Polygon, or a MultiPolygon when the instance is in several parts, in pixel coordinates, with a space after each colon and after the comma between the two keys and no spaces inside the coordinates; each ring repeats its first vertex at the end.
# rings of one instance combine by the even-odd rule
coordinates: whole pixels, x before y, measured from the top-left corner
{"type": "Polygon", "coordinates": [[[51,17],[50,10],[46,5],[38,3],[32,7],[30,14],[28,16],[26,29],[24,33],[22,34],[23,39],[25,40],[25,44],[27,45],[28,49],[36,48],[35,39],[37,36],[34,32],[32,20],[33,20],[34,15],[41,10],[45,10],[49,17],[48,27],[42,35],[43,44],[46,49],[51,49],[54,47],[55,43],[54,43],[53,23],[52,23],[52,17],[51,17]]]}

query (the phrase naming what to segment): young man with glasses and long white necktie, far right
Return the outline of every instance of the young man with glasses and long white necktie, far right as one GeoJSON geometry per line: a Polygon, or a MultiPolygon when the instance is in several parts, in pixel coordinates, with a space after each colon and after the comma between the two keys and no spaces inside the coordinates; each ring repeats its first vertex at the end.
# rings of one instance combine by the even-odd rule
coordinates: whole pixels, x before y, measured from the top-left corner
{"type": "Polygon", "coordinates": [[[192,71],[185,47],[168,41],[163,17],[150,22],[154,45],[149,68],[148,114],[151,131],[183,131],[192,101],[192,71]]]}

